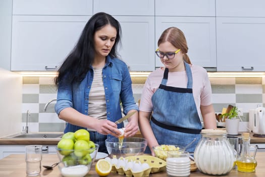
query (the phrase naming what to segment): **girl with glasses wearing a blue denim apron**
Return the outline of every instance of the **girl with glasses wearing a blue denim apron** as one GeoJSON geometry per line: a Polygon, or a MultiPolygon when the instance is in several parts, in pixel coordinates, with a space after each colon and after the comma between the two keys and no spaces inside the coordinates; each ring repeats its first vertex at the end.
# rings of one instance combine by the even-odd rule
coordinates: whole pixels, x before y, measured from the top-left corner
{"type": "Polygon", "coordinates": [[[139,127],[149,147],[146,153],[151,150],[154,155],[152,147],[162,144],[187,146],[196,138],[186,149],[194,152],[201,137],[201,122],[205,128],[216,128],[207,72],[191,64],[180,29],[166,29],[157,45],[155,53],[165,67],[148,76],[139,107],[139,127]]]}

